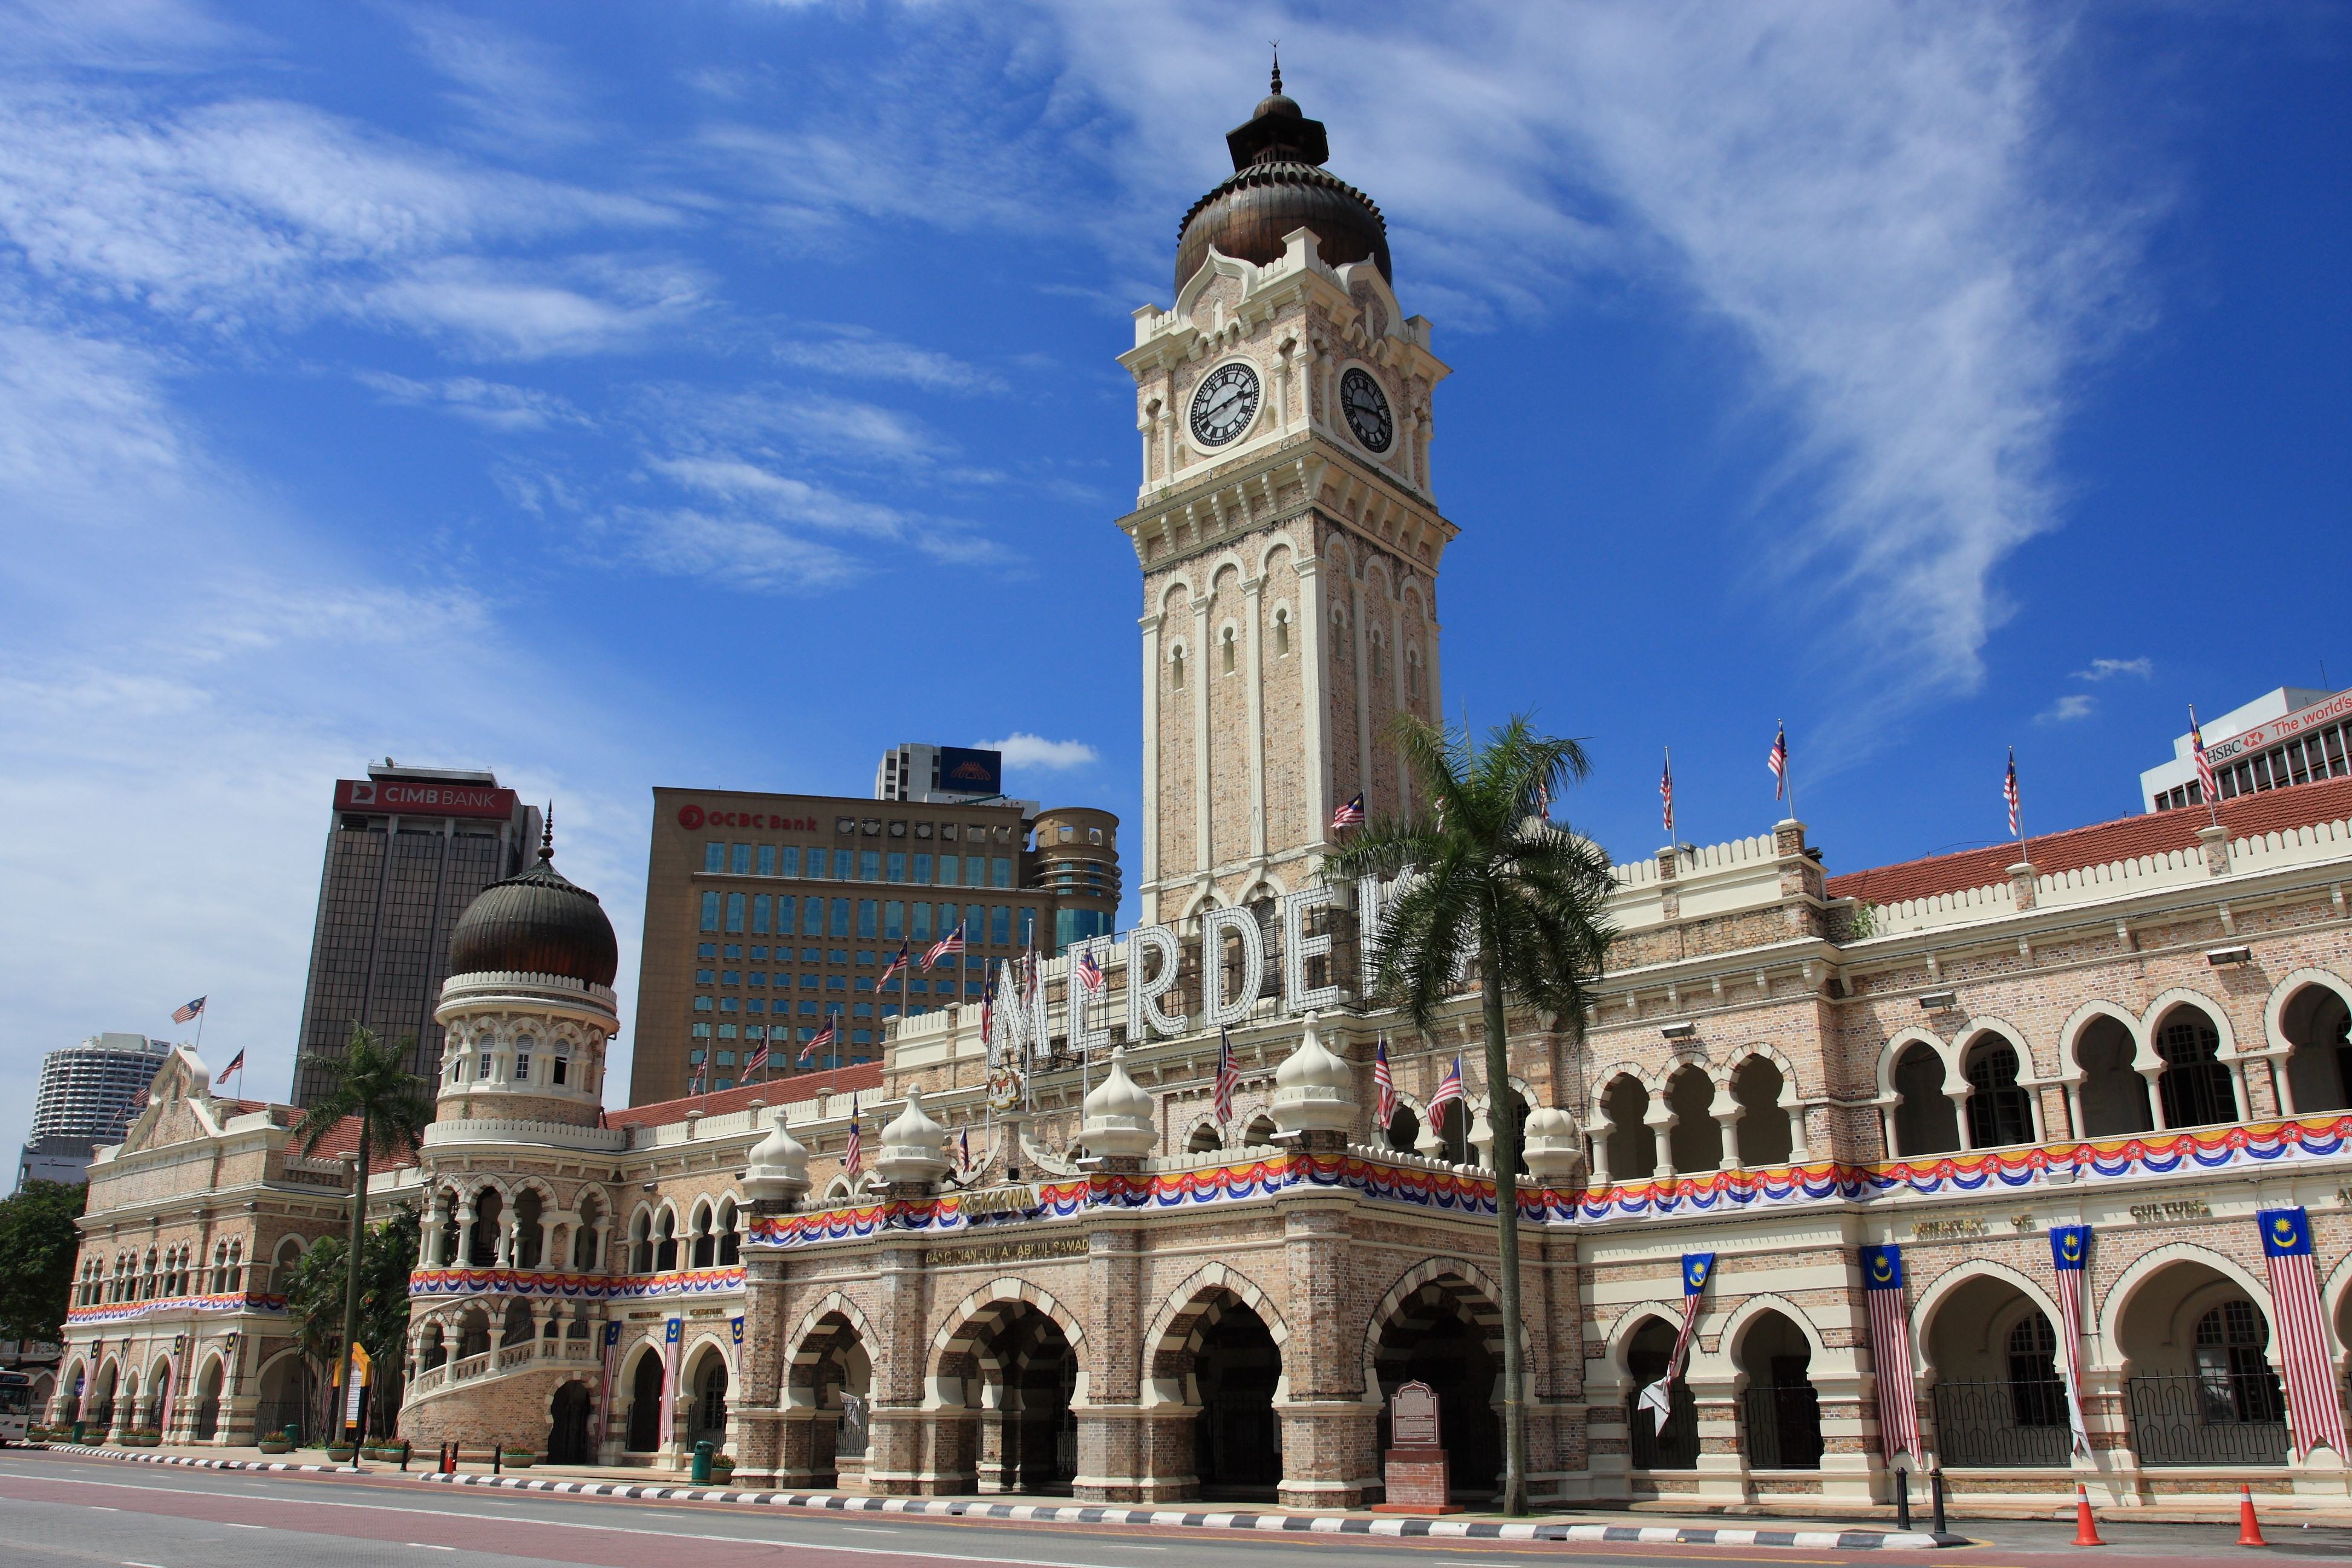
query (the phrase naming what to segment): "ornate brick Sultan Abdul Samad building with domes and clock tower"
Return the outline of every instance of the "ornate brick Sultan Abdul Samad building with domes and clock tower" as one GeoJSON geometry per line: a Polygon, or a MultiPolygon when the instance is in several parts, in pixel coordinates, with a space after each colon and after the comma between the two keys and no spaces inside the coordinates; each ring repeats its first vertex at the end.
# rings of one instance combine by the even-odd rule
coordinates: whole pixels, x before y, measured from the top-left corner
{"type": "MultiPolygon", "coordinates": [[[[1364,1011],[1383,889],[1317,872],[1334,804],[1406,804],[1388,717],[1442,710],[1446,367],[1324,127],[1277,92],[1228,141],[1174,308],[1122,355],[1152,924],[1094,943],[1098,997],[1061,957],[985,1034],[948,1009],[837,1081],[602,1112],[612,926],[546,858],[492,886],[452,945],[440,1117],[374,1192],[426,1218],[416,1443],[670,1469],[708,1439],[736,1486],[1357,1505],[1423,1380],[1456,1493],[1494,1488],[1477,997],[1435,1037],[1364,1011]],[[1468,1114],[1432,1126],[1456,1056],[1468,1114]]],[[[1940,1462],[1964,1500],[2251,1481],[2340,1507],[2347,818],[2352,780],[2314,780],[2032,863],[1832,875],[1785,820],[1618,867],[1583,1034],[1510,1018],[1536,1497],[1858,1505],[1940,1462]],[[1693,1258],[1661,1432],[1637,1392],[1693,1258]]],[[[54,1415],[238,1443],[315,1410],[280,1291],[348,1178],[289,1119],[169,1060],[92,1168],[54,1415]]]]}

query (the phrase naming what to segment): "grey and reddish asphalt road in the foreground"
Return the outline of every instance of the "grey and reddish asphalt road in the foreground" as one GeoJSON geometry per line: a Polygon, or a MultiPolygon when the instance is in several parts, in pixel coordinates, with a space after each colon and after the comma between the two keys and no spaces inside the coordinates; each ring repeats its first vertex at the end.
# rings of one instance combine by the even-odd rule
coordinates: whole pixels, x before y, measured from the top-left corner
{"type": "MultiPolygon", "coordinates": [[[[1623,1514],[1611,1516],[1625,1521],[1623,1514]]],[[[2074,1552],[2072,1526],[1969,1526],[1976,1547],[1936,1554],[1795,1547],[1585,1547],[1310,1535],[1228,1535],[1141,1526],[840,1519],[771,1507],[710,1507],[548,1493],[445,1490],[400,1476],[329,1479],[129,1467],[47,1453],[0,1455],[0,1563],[7,1568],[903,1568],[960,1561],[1004,1568],[1526,1568],[1578,1563],[1938,1563],[2034,1568],[2074,1552]],[[1336,1568],[1336,1566],[1334,1566],[1336,1568]]],[[[2352,1530],[2284,1530],[2237,1552],[2234,1528],[2105,1526],[2098,1561],[2352,1561],[2352,1530]]]]}

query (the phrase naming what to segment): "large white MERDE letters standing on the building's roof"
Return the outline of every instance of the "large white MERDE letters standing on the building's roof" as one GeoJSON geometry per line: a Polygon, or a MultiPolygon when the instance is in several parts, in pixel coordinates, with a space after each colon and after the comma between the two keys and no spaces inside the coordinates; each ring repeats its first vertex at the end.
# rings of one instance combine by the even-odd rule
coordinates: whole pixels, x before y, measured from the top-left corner
{"type": "MultiPolygon", "coordinates": [[[[1190,1034],[1195,1027],[1223,1030],[1247,1023],[1251,1009],[1265,999],[1268,938],[1279,947],[1282,959],[1282,1011],[1289,1016],[1319,1013],[1348,1001],[1348,987],[1334,985],[1329,973],[1334,936],[1329,929],[1308,931],[1315,910],[1355,910],[1359,973],[1378,971],[1381,922],[1392,903],[1399,879],[1362,877],[1355,886],[1319,884],[1284,893],[1275,900],[1272,929],[1258,924],[1258,907],[1240,905],[1228,910],[1204,910],[1192,940],[1176,926],[1136,926],[1127,936],[1096,936],[1068,947],[1068,983],[1063,985],[1063,1023],[1073,1053],[1110,1046],[1110,985],[1103,994],[1089,994],[1080,983],[1080,954],[1094,954],[1105,971],[1112,950],[1127,947],[1127,1041],[1141,1044],[1152,1034],[1190,1034]],[[1223,959],[1225,943],[1240,947],[1235,964],[1223,959]],[[1183,980],[1185,947],[1200,952],[1200,1023],[1190,1013],[1169,1011],[1169,992],[1183,980]],[[1324,983],[1308,983],[1308,964],[1324,959],[1324,983]],[[1230,973],[1228,973],[1230,969],[1230,973]]],[[[988,1039],[990,1060],[1021,1060],[1044,1056],[1054,1039],[1051,1001],[1044,980],[1021,994],[1014,966],[1000,969],[997,1006],[988,1039]]]]}

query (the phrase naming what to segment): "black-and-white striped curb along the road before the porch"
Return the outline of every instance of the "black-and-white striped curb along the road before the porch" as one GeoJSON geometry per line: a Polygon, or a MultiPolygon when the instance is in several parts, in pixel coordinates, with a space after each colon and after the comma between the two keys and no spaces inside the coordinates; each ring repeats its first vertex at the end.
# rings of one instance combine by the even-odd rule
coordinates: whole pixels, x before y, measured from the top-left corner
{"type": "Polygon", "coordinates": [[[569,1493],[576,1497],[640,1497],[661,1502],[736,1502],[833,1514],[915,1514],[924,1519],[1014,1519],[1023,1523],[1148,1523],[1195,1530],[1277,1530],[1301,1535],[1402,1535],[1432,1540],[1543,1540],[1578,1544],[1661,1547],[1809,1547],[1839,1552],[1931,1552],[1973,1544],[1964,1535],[1929,1530],[1759,1530],[1616,1523],[1505,1523],[1498,1519],[1395,1519],[1345,1514],[1240,1514],[1188,1509],[1122,1509],[1091,1502],[971,1502],[960,1497],[863,1497],[849,1493],[743,1493],[703,1486],[649,1486],[637,1481],[548,1481],[536,1476],[419,1474],[440,1486],[499,1486],[522,1493],[569,1493]]]}

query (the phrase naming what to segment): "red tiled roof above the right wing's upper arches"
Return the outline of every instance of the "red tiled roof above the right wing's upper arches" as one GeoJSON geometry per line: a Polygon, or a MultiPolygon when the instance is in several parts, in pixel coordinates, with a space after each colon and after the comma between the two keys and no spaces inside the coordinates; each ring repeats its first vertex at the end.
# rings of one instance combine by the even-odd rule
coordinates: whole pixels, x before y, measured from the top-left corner
{"type": "MultiPolygon", "coordinates": [[[[2263,790],[2220,804],[2220,825],[2230,830],[2232,839],[2345,818],[2352,818],[2352,778],[2263,790]]],[[[2150,811],[2114,823],[2070,827],[2067,832],[2037,832],[2025,839],[2025,849],[2032,856],[2034,870],[2049,877],[2086,865],[2107,865],[2110,860],[2194,849],[2197,830],[2209,820],[2204,806],[2150,811]]],[[[1964,849],[1955,856],[1929,856],[1926,860],[1903,860],[1900,865],[1879,865],[1865,872],[1830,877],[1830,898],[1863,898],[1884,905],[1957,893],[1962,889],[2009,882],[2009,867],[2016,863],[2016,844],[1964,849]]]]}

